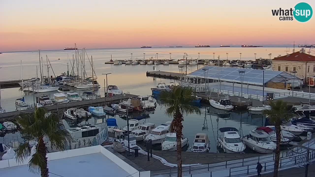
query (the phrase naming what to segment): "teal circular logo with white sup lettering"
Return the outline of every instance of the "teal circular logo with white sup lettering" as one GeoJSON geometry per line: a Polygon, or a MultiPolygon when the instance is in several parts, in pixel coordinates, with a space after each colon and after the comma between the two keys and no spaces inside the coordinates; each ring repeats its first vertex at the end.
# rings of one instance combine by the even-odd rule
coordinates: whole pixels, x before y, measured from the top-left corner
{"type": "Polygon", "coordinates": [[[298,3],[294,6],[293,16],[300,22],[306,22],[311,19],[313,9],[308,3],[298,3]]]}

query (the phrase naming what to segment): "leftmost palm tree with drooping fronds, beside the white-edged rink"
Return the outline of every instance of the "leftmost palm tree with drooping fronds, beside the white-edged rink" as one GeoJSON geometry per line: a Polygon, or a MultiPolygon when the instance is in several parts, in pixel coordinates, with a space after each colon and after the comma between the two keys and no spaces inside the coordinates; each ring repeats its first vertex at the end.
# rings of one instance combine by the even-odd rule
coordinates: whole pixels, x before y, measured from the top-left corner
{"type": "Polygon", "coordinates": [[[29,114],[21,112],[16,118],[16,123],[20,126],[21,136],[37,140],[37,145],[36,152],[31,155],[28,142],[21,144],[17,148],[15,160],[20,163],[31,155],[28,162],[29,170],[32,173],[40,173],[42,177],[48,177],[47,147],[43,138],[48,138],[51,146],[64,151],[67,144],[72,142],[69,132],[64,129],[57,114],[48,113],[43,107],[35,108],[35,111],[29,114]]]}

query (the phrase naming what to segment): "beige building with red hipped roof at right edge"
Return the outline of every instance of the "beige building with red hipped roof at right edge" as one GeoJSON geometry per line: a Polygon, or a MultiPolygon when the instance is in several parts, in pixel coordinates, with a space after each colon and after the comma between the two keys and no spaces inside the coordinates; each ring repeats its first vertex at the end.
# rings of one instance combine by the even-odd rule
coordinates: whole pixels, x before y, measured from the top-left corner
{"type": "Polygon", "coordinates": [[[295,76],[305,81],[306,77],[315,76],[315,56],[306,54],[302,48],[299,52],[272,59],[272,70],[286,71],[292,75],[292,71],[296,71],[295,76]]]}

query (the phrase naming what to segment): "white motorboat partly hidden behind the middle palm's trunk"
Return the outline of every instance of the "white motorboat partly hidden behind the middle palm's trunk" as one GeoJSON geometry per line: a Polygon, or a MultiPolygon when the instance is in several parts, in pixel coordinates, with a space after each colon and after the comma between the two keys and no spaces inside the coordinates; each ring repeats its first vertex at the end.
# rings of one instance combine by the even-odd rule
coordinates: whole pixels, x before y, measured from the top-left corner
{"type": "MultiPolygon", "coordinates": [[[[168,133],[166,135],[165,140],[162,142],[162,151],[176,151],[176,133],[168,133]]],[[[181,135],[181,147],[189,146],[188,138],[186,138],[183,134],[181,135]]]]}

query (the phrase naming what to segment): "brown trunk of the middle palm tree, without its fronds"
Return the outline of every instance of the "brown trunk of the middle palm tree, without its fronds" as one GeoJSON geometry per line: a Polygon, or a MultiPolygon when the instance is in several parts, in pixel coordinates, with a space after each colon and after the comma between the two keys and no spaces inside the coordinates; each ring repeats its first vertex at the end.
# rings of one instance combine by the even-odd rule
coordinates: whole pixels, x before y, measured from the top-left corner
{"type": "Polygon", "coordinates": [[[182,115],[177,114],[175,120],[176,127],[176,141],[177,141],[177,177],[181,177],[182,167],[181,167],[181,134],[182,134],[182,124],[181,124],[182,115]]]}

